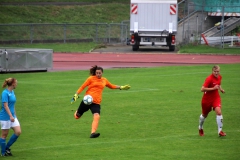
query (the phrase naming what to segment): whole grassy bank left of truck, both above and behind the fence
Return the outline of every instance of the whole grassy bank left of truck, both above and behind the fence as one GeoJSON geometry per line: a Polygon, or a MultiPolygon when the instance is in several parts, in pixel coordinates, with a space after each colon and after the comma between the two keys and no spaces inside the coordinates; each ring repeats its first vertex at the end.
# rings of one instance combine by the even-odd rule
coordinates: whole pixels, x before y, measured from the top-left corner
{"type": "MultiPolygon", "coordinates": [[[[124,20],[129,20],[129,8],[129,3],[117,2],[93,3],[87,6],[1,6],[0,22],[10,26],[0,26],[2,31],[0,39],[1,41],[26,40],[30,43],[31,40],[63,40],[64,35],[66,40],[92,40],[96,36],[100,39],[106,38],[108,24],[120,24],[124,20]],[[24,25],[35,23],[48,25],[34,27],[24,25]],[[14,24],[19,26],[14,27],[14,24]],[[63,24],[78,25],[68,25],[65,28],[66,33],[63,33],[63,24]]],[[[111,28],[113,36],[119,36],[120,33],[119,28],[111,28]]]]}

